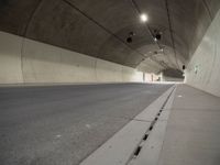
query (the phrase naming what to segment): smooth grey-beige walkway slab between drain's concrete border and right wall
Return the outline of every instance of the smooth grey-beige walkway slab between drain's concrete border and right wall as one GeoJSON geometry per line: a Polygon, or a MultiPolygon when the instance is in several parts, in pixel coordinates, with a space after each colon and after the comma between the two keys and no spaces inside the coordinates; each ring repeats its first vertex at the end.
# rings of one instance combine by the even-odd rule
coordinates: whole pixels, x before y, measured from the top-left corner
{"type": "Polygon", "coordinates": [[[220,98],[178,85],[158,165],[220,164],[220,98]]]}

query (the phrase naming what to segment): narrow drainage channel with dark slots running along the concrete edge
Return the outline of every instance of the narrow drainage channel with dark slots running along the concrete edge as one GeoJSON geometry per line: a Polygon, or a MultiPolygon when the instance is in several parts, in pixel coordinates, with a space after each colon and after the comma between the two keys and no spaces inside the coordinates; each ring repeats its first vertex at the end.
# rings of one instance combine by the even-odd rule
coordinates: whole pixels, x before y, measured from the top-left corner
{"type": "Polygon", "coordinates": [[[143,135],[142,140],[140,141],[139,145],[136,146],[136,148],[134,150],[133,154],[131,155],[131,157],[129,158],[129,161],[127,162],[125,165],[130,165],[130,163],[131,163],[133,160],[135,160],[135,158],[139,156],[139,154],[141,153],[141,150],[142,150],[144,143],[147,141],[147,139],[148,139],[148,136],[150,136],[150,133],[152,132],[152,130],[153,130],[155,123],[157,122],[157,120],[158,120],[161,113],[163,112],[163,110],[164,110],[164,108],[165,108],[167,101],[169,100],[169,98],[170,98],[170,96],[172,96],[174,89],[175,89],[175,87],[172,89],[170,94],[167,96],[166,100],[164,101],[164,103],[162,105],[161,109],[158,110],[156,117],[155,117],[154,120],[152,121],[150,128],[146,130],[145,134],[143,135]]]}

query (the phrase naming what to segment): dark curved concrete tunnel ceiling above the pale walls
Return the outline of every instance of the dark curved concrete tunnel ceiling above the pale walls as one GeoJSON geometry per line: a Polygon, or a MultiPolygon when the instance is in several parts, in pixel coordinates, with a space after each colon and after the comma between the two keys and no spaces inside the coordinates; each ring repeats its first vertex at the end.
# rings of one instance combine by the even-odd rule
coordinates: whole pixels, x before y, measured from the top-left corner
{"type": "Polygon", "coordinates": [[[219,0],[1,0],[0,30],[146,72],[180,70],[219,8],[219,0]]]}

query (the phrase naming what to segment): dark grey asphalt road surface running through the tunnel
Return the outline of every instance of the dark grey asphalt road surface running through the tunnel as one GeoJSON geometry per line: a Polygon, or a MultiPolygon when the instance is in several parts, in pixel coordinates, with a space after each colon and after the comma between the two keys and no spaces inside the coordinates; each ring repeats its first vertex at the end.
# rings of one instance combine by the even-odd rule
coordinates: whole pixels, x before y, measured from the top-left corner
{"type": "Polygon", "coordinates": [[[78,165],[169,87],[0,88],[0,164],[78,165]]]}

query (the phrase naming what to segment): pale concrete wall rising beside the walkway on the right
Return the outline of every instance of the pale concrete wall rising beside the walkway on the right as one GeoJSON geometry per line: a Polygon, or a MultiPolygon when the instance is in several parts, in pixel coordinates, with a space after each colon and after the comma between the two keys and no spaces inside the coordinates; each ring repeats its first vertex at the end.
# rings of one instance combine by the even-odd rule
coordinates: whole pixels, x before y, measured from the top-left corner
{"type": "Polygon", "coordinates": [[[220,10],[187,66],[186,82],[220,97],[220,10]]]}

